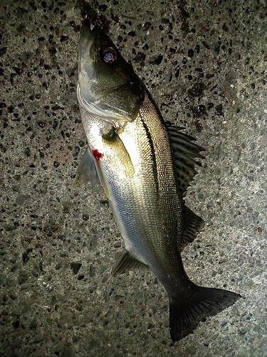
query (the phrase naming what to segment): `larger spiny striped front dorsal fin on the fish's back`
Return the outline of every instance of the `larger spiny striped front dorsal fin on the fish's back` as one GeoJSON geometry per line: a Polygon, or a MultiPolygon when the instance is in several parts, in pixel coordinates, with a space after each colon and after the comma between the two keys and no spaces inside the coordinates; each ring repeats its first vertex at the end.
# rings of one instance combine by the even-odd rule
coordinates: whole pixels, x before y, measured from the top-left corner
{"type": "Polygon", "coordinates": [[[169,134],[169,142],[172,147],[172,158],[174,161],[174,175],[177,182],[177,188],[181,198],[184,192],[187,191],[189,183],[194,179],[197,171],[194,169],[195,164],[201,165],[194,159],[204,159],[200,151],[205,151],[192,141],[195,139],[192,136],[182,133],[180,130],[184,129],[167,122],[167,131],[169,134]]]}

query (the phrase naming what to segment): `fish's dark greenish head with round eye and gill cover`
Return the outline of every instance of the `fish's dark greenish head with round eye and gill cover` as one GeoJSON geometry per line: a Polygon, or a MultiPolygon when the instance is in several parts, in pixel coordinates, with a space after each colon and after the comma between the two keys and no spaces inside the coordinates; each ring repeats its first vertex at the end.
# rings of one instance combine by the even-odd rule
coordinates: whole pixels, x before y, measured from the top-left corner
{"type": "Polygon", "coordinates": [[[135,120],[145,98],[132,66],[100,26],[91,29],[89,19],[80,29],[77,96],[83,109],[113,122],[135,120]]]}

